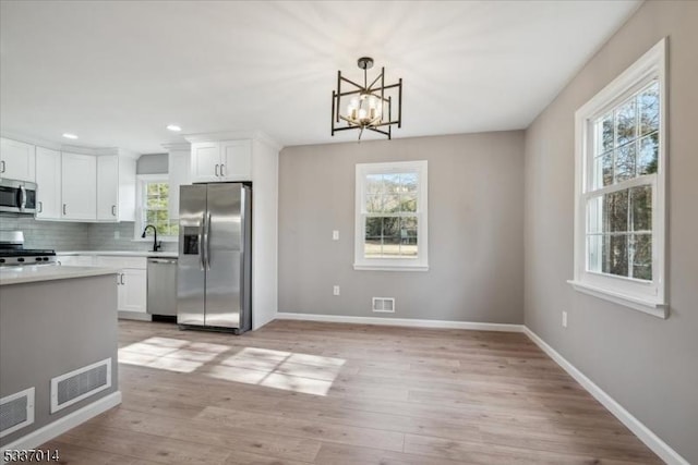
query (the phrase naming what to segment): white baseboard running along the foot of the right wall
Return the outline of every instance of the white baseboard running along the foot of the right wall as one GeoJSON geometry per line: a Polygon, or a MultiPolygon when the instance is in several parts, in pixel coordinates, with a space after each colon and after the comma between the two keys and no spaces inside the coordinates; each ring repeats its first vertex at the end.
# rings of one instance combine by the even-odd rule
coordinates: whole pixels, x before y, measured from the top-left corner
{"type": "Polygon", "coordinates": [[[592,380],[587,378],[585,374],[579,371],[573,364],[567,362],[565,357],[559,355],[557,351],[547,345],[538,334],[524,327],[524,333],[528,335],[543,352],[545,352],[557,365],[569,374],[582,388],[585,388],[593,397],[601,403],[609,412],[621,420],[640,441],[652,450],[661,460],[671,465],[689,465],[688,461],[682,457],[676,451],[662,441],[659,436],[654,435],[640,420],[635,418],[628,411],[618,404],[611,395],[599,388],[592,380]]]}

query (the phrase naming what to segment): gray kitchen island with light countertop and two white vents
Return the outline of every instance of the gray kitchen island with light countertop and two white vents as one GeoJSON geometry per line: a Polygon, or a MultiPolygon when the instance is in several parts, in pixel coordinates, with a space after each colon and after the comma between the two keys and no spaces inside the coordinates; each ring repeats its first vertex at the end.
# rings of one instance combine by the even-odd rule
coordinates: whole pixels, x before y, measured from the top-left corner
{"type": "Polygon", "coordinates": [[[0,449],[35,448],[121,403],[118,272],[0,269],[0,449]]]}

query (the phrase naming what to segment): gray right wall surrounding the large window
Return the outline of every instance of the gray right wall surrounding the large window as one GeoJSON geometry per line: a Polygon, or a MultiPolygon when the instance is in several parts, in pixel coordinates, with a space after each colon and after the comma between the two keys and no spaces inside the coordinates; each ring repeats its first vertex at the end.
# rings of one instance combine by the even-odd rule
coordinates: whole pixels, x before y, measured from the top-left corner
{"type": "Polygon", "coordinates": [[[698,463],[697,24],[698,2],[643,3],[526,132],[526,325],[690,463],[698,463]],[[565,282],[574,272],[574,112],[664,36],[667,320],[565,282]]]}

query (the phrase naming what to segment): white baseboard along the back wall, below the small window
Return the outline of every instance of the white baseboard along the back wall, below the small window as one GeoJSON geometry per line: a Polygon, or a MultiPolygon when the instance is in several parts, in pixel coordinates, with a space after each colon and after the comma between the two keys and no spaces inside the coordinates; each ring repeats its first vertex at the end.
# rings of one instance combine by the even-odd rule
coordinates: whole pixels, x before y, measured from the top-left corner
{"type": "Polygon", "coordinates": [[[421,320],[412,318],[348,317],[341,315],[290,314],[279,311],[279,320],[326,321],[336,323],[400,326],[410,328],[450,328],[476,331],[524,332],[524,325],[480,323],[470,321],[421,320]]]}

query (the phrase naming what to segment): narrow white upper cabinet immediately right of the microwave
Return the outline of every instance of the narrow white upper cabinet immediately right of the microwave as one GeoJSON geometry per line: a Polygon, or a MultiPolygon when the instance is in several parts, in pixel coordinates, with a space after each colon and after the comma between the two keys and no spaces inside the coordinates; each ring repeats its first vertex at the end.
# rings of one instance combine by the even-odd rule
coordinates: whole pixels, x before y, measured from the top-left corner
{"type": "Polygon", "coordinates": [[[61,218],[61,152],[36,147],[36,219],[61,218]]]}

